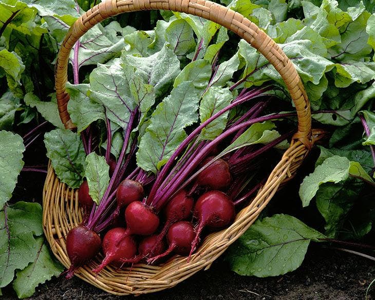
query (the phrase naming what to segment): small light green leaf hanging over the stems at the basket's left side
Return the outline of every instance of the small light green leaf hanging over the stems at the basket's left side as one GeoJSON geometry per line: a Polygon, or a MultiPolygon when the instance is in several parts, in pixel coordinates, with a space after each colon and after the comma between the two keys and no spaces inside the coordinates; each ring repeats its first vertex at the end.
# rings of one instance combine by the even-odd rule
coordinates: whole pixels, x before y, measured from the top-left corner
{"type": "Polygon", "coordinates": [[[92,200],[99,205],[109,183],[109,165],[103,156],[95,152],[86,157],[85,177],[92,200]]]}

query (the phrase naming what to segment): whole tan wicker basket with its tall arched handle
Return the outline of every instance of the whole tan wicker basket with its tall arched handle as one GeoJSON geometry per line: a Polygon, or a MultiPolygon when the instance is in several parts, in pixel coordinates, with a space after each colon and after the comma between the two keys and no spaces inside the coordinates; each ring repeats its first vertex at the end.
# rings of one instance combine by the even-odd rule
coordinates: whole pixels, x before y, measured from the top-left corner
{"type": "MultiPolygon", "coordinates": [[[[108,266],[97,275],[91,269],[100,264],[102,257],[98,255],[88,265],[76,271],[76,275],[86,282],[116,295],[151,293],[171,288],[199,270],[210,268],[212,262],[256,220],[279,185],[292,177],[312,146],[309,100],[301,79],[283,50],[246,17],[205,0],[106,0],[82,15],[65,36],[55,69],[59,113],[66,128],[74,127],[67,112],[69,95],[65,90],[69,53],[73,45],[91,27],[107,17],[123,12],[152,9],[185,12],[203,17],[232,30],[256,48],[282,76],[295,104],[298,131],[266,184],[248,207],[237,214],[229,228],[205,238],[189,263],[186,262],[186,257],[175,255],[159,266],[138,264],[131,270],[108,266]]],[[[65,237],[68,231],[78,226],[81,221],[82,210],[78,205],[77,191],[61,183],[49,165],[43,191],[43,228],[54,255],[65,267],[70,265],[65,237]]]]}

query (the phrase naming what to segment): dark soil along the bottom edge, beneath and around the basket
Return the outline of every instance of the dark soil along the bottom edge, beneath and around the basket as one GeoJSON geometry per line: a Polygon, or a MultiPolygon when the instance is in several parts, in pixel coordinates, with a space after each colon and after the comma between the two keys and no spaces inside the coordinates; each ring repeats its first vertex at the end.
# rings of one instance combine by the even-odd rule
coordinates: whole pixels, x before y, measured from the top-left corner
{"type": "MultiPolygon", "coordinates": [[[[172,289],[150,295],[138,296],[137,300],[195,300],[195,299],[365,299],[365,293],[375,278],[373,261],[320,245],[310,247],[303,265],[283,276],[256,278],[239,276],[218,259],[208,271],[200,271],[172,289]]],[[[375,299],[375,287],[368,299],[375,299]]],[[[132,296],[128,296],[132,297],[132,296]]],[[[15,299],[11,288],[3,290],[3,299],[15,299]]],[[[36,289],[30,298],[51,299],[105,299],[121,297],[101,291],[81,279],[67,280],[59,277],[36,289]]]]}

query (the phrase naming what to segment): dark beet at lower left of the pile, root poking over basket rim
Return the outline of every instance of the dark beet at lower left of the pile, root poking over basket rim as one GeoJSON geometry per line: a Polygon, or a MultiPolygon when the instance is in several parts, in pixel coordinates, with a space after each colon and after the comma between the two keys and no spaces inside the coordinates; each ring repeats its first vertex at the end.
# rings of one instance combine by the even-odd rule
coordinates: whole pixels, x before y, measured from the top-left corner
{"type": "Polygon", "coordinates": [[[65,277],[70,279],[78,267],[93,258],[99,252],[101,244],[102,240],[96,232],[84,226],[71,229],[66,237],[70,267],[65,277]]]}

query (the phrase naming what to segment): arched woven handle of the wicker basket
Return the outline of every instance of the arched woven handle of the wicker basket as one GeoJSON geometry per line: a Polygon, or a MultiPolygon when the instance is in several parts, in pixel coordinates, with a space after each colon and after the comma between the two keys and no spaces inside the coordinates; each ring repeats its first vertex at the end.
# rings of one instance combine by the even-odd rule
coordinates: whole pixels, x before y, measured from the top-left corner
{"type": "Polygon", "coordinates": [[[310,103],[293,63],[271,37],[246,17],[208,0],[105,0],[80,16],[65,36],[55,67],[59,114],[66,128],[75,127],[67,111],[70,97],[65,89],[68,80],[69,53],[74,44],[90,28],[110,16],[123,12],[154,9],[190,13],[213,21],[232,30],[263,54],[283,78],[294,102],[298,117],[298,132],[293,138],[301,141],[308,149],[311,148],[310,103]]]}

